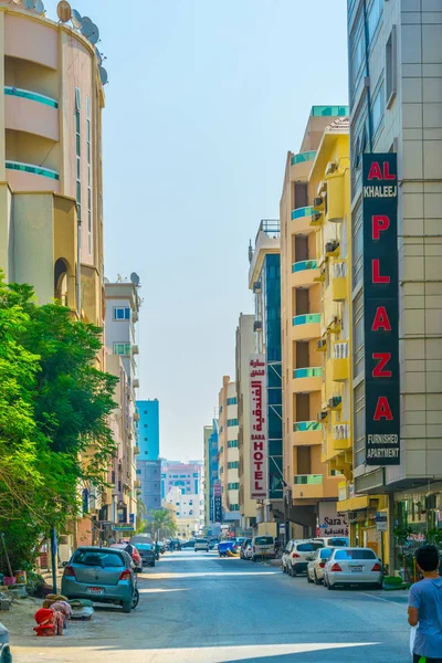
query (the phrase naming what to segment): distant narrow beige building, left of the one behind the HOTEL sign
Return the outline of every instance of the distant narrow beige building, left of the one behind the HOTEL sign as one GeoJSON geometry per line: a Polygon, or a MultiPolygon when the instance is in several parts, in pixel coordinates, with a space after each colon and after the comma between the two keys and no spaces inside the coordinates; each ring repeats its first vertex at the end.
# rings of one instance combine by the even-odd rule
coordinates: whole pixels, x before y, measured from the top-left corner
{"type": "Polygon", "coordinates": [[[222,486],[222,518],[238,527],[240,514],[240,453],[236,383],[229,376],[222,379],[219,404],[219,467],[222,486]]]}

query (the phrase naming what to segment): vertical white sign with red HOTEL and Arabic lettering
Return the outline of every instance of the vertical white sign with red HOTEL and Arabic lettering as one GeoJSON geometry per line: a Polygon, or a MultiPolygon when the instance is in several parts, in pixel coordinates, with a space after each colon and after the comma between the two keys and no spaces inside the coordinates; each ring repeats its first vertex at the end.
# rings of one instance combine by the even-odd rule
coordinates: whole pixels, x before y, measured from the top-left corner
{"type": "Polygon", "coordinates": [[[267,497],[267,399],[265,381],[265,356],[251,355],[249,359],[250,389],[250,496],[252,499],[267,497]]]}

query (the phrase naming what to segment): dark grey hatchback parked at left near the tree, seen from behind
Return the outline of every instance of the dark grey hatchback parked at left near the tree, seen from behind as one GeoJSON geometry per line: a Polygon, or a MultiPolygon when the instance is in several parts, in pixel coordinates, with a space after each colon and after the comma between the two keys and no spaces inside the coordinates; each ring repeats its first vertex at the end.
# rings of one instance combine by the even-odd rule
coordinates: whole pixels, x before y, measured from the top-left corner
{"type": "Polygon", "coordinates": [[[81,547],[75,550],[62,577],[62,594],[115,603],[130,612],[138,603],[137,577],[131,557],[120,548],[81,547]]]}

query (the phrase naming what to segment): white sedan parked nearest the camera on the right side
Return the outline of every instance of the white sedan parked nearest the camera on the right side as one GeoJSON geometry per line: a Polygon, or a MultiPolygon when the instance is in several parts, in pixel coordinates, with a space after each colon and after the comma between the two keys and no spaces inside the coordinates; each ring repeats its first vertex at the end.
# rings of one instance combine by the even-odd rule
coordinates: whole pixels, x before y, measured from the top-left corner
{"type": "Polygon", "coordinates": [[[327,589],[338,586],[382,587],[381,562],[371,548],[335,548],[324,569],[327,589]]]}

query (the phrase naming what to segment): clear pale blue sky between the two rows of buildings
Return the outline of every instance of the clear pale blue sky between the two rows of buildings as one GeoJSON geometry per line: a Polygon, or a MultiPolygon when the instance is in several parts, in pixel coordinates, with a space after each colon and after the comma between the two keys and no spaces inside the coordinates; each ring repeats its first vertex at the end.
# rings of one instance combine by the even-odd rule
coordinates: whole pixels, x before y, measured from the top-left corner
{"type": "MultiPolygon", "coordinates": [[[[314,104],[347,103],[345,0],[77,0],[107,56],[105,271],[136,271],[140,398],[161,454],[202,457],[248,244],[278,217],[285,157],[314,104]]],[[[56,0],[45,0],[55,17],[56,0]]]]}

